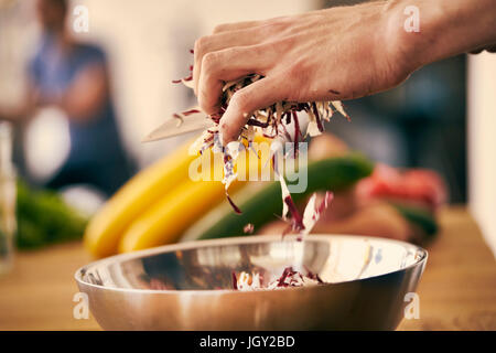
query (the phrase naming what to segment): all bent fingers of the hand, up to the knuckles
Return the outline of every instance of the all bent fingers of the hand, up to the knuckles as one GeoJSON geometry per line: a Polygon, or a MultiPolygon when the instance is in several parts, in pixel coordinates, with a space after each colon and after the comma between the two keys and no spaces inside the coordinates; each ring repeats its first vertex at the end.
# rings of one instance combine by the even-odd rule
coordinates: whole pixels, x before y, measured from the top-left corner
{"type": "Polygon", "coordinates": [[[276,46],[269,45],[267,39],[289,24],[285,18],[220,24],[213,35],[196,41],[194,89],[202,110],[208,115],[218,113],[225,82],[249,74],[268,76],[231,97],[220,120],[224,145],[238,138],[250,111],[282,99],[278,81],[268,75],[278,55],[276,46]]]}

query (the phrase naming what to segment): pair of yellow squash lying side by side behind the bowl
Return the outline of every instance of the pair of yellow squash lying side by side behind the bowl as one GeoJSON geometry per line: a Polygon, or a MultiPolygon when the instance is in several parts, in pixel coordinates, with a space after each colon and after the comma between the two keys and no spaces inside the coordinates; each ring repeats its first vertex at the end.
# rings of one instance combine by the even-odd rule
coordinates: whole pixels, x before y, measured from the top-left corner
{"type": "MultiPolygon", "coordinates": [[[[219,181],[190,178],[192,162],[198,158],[188,153],[191,143],[142,170],[99,210],[84,236],[91,255],[106,257],[175,243],[191,224],[225,200],[219,181]]],[[[208,157],[205,153],[209,154],[211,170],[222,170],[222,159],[211,150],[203,153],[208,157]]],[[[260,165],[261,162],[256,167],[250,163],[248,168],[260,165]]],[[[235,192],[242,184],[236,181],[229,191],[235,192]]]]}

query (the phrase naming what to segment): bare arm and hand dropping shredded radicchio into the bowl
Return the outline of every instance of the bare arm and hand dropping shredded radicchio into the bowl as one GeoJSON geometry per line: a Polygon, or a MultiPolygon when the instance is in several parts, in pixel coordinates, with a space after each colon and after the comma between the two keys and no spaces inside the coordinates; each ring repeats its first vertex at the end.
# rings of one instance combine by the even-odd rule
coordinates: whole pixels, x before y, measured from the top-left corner
{"type": "Polygon", "coordinates": [[[220,120],[235,140],[246,114],[278,100],[351,99],[391,88],[428,63],[496,43],[496,1],[377,1],[219,25],[195,43],[201,107],[217,113],[223,82],[265,76],[235,94],[220,120]],[[407,32],[414,4],[420,32],[407,32]]]}

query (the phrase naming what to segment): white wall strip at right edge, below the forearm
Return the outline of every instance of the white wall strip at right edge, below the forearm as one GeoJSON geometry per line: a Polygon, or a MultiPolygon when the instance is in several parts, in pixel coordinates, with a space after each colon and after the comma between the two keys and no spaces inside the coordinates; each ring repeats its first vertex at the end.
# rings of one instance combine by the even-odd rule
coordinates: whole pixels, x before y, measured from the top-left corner
{"type": "Polygon", "coordinates": [[[496,255],[496,54],[468,58],[470,210],[496,255]]]}

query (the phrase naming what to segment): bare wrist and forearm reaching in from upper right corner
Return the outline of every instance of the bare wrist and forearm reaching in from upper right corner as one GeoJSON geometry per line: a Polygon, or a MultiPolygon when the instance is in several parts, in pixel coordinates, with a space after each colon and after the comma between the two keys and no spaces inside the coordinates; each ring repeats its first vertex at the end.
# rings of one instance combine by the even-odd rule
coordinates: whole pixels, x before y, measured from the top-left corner
{"type": "Polygon", "coordinates": [[[399,0],[386,7],[393,45],[413,69],[496,43],[494,0],[399,0]],[[407,32],[408,6],[419,9],[420,31],[407,32]]]}

